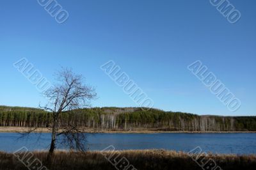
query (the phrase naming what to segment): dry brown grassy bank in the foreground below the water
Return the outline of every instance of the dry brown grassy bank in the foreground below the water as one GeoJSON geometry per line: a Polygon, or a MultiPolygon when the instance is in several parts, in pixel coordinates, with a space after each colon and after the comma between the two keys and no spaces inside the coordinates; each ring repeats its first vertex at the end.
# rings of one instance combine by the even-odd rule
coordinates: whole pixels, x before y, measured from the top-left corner
{"type": "MultiPolygon", "coordinates": [[[[200,169],[195,161],[187,153],[164,151],[164,150],[131,150],[115,151],[115,155],[120,154],[116,160],[125,157],[136,169],[200,169]]],[[[22,154],[19,153],[20,157],[22,154]]],[[[114,170],[116,169],[105,157],[111,155],[110,152],[89,151],[86,153],[56,151],[52,157],[52,164],[47,162],[47,152],[35,151],[35,158],[42,160],[48,169],[95,169],[95,170],[114,170]]],[[[212,158],[221,169],[255,169],[255,155],[209,155],[207,160],[212,158]]],[[[0,169],[27,169],[12,153],[0,152],[0,169]]],[[[135,170],[135,169],[129,169],[135,170]]]]}

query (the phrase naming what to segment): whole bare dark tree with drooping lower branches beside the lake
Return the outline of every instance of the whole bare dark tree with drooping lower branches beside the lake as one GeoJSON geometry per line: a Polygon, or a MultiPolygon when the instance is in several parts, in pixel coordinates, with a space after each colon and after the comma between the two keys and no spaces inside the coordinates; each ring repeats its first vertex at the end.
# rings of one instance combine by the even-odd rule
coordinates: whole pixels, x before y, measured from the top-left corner
{"type": "Polygon", "coordinates": [[[61,113],[77,114],[77,109],[90,106],[90,100],[97,94],[94,88],[83,84],[82,75],[77,75],[68,68],[62,68],[56,73],[56,81],[57,84],[44,92],[48,103],[44,107],[40,106],[52,113],[52,122],[49,123],[52,132],[49,155],[56,149],[57,142],[67,144],[70,149],[83,151],[86,139],[84,128],[79,127],[78,123],[61,123],[61,113]]]}

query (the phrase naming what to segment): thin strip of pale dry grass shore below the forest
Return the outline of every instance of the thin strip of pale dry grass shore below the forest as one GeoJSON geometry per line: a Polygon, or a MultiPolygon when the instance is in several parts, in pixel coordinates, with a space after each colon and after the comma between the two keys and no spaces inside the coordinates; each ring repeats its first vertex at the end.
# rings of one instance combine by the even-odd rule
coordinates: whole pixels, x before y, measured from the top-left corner
{"type": "MultiPolygon", "coordinates": [[[[0,127],[0,133],[24,133],[32,128],[28,127],[0,127]]],[[[37,128],[35,133],[51,133],[49,128],[37,128]]],[[[93,128],[86,128],[86,133],[102,133],[102,134],[230,134],[230,133],[256,133],[256,131],[166,131],[157,129],[136,129],[136,130],[99,130],[93,128]]]]}

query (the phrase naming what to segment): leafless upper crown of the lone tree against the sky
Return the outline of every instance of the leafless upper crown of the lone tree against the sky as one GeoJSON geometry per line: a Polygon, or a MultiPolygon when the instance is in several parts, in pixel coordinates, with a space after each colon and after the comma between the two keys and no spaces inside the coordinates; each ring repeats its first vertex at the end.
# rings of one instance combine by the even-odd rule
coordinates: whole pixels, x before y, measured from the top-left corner
{"type": "Polygon", "coordinates": [[[70,69],[57,72],[56,81],[58,84],[44,92],[49,99],[44,107],[47,111],[58,113],[88,107],[89,101],[97,96],[94,88],[83,84],[82,75],[76,75],[70,69]]]}

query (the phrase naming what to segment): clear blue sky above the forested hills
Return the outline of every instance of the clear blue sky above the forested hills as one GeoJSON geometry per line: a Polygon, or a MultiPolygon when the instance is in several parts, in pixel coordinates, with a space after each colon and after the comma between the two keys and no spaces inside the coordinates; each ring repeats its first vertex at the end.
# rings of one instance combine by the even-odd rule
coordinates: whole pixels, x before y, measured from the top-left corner
{"type": "Polygon", "coordinates": [[[27,58],[47,79],[68,66],[95,86],[92,106],[136,107],[100,70],[112,59],[164,111],[256,115],[256,1],[231,1],[230,24],[207,0],[58,0],[58,24],[37,1],[0,1],[0,105],[37,107],[45,100],[13,63],[27,58]],[[241,100],[228,111],[187,66],[200,59],[241,100]]]}

